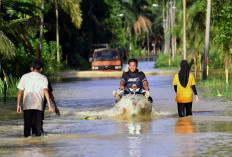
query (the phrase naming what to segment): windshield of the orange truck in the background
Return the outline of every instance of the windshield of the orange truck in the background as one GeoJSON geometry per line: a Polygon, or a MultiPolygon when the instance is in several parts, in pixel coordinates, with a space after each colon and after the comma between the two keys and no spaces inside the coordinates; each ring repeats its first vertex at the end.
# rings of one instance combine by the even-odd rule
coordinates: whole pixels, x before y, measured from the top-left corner
{"type": "Polygon", "coordinates": [[[98,51],[94,53],[95,61],[116,61],[120,60],[120,55],[117,51],[98,51]]]}

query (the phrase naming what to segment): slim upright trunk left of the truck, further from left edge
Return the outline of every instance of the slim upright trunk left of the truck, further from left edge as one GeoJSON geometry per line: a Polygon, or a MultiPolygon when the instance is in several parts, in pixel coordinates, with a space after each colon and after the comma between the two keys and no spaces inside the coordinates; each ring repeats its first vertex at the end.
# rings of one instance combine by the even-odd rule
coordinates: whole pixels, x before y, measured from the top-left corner
{"type": "Polygon", "coordinates": [[[59,49],[60,36],[59,36],[59,10],[58,10],[59,8],[57,5],[57,0],[55,5],[56,5],[55,8],[56,8],[56,48],[57,48],[56,55],[57,55],[57,62],[60,63],[60,49],[59,49]]]}

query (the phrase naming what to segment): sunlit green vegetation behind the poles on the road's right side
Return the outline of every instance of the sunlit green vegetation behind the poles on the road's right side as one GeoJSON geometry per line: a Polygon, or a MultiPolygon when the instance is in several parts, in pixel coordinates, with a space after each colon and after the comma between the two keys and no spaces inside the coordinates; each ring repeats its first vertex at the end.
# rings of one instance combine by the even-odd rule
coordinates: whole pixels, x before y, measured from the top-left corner
{"type": "MultiPolygon", "coordinates": [[[[164,47],[157,58],[156,67],[167,68],[169,57],[175,62],[176,56],[183,56],[183,10],[182,1],[174,1],[165,7],[165,23],[170,24],[164,27],[164,47]],[[172,11],[175,5],[174,14],[171,16],[168,11],[172,11]],[[174,16],[174,17],[173,17],[174,16]],[[163,56],[166,55],[167,57],[163,56]],[[165,64],[164,64],[165,62],[165,64]]],[[[192,68],[202,71],[204,66],[204,44],[206,29],[206,10],[207,0],[187,0],[187,60],[193,65],[192,68]]],[[[211,25],[210,25],[210,51],[209,67],[210,69],[224,69],[226,58],[232,55],[232,2],[212,1],[211,5],[211,25]]],[[[183,57],[182,57],[183,58],[183,57]]],[[[230,60],[231,63],[231,60],[230,60]]],[[[175,63],[178,65],[178,63],[175,63]]],[[[170,68],[175,65],[170,66],[170,68]]],[[[229,64],[229,69],[232,64],[229,64]]]]}

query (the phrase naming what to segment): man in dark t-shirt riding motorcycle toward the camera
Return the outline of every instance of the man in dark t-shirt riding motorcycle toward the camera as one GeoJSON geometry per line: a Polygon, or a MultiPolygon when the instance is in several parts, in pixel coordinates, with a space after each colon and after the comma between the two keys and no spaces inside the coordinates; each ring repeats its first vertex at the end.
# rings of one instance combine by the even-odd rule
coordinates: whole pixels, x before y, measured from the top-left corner
{"type": "Polygon", "coordinates": [[[120,82],[120,88],[118,91],[113,92],[113,96],[116,100],[120,100],[123,94],[128,94],[127,89],[131,88],[132,85],[136,84],[138,87],[143,88],[145,90],[145,97],[152,103],[152,98],[149,94],[149,86],[148,81],[145,74],[142,71],[137,69],[138,60],[130,59],[128,61],[129,71],[124,72],[122,75],[122,79],[120,82]]]}

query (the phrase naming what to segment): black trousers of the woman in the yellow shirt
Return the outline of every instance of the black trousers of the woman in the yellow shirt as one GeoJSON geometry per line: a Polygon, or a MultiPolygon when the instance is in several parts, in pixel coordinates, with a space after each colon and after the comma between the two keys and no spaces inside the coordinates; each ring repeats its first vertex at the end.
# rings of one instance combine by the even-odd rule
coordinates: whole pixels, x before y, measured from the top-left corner
{"type": "Polygon", "coordinates": [[[189,103],[177,103],[179,117],[192,115],[192,102],[189,103]]]}

